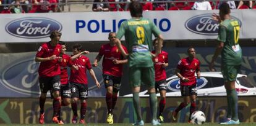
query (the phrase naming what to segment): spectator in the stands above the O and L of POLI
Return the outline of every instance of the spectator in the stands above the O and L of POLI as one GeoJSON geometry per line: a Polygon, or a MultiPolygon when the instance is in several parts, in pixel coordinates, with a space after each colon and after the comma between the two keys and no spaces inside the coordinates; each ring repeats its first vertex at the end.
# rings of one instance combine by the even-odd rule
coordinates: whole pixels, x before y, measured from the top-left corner
{"type": "Polygon", "coordinates": [[[100,2],[108,2],[107,0],[94,0],[93,2],[93,11],[100,12],[100,11],[108,11],[109,10],[109,4],[106,3],[100,3],[100,2]]]}

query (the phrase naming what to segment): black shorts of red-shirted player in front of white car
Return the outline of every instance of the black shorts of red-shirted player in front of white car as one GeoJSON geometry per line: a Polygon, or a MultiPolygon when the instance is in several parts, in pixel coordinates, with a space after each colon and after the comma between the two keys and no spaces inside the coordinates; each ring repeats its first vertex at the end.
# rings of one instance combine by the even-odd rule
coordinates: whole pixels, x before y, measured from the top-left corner
{"type": "Polygon", "coordinates": [[[181,85],[181,96],[197,95],[197,84],[193,85],[181,85]]]}

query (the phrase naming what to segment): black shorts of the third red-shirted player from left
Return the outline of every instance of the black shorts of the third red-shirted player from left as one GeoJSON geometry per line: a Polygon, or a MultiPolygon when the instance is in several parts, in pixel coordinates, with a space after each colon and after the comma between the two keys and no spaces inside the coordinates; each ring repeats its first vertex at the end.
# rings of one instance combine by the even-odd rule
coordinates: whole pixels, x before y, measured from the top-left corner
{"type": "Polygon", "coordinates": [[[71,83],[71,98],[80,98],[80,100],[85,100],[88,98],[88,85],[87,84],[77,84],[71,83]]]}

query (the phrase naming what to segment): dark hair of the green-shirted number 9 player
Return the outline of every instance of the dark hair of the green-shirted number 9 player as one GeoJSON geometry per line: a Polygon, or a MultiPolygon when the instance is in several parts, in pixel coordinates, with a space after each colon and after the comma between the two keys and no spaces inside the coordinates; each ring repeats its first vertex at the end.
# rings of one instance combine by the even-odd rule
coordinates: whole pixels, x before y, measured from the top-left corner
{"type": "Polygon", "coordinates": [[[132,17],[142,17],[142,4],[140,4],[137,1],[132,1],[129,4],[129,10],[130,10],[130,15],[132,15],[132,17]]]}

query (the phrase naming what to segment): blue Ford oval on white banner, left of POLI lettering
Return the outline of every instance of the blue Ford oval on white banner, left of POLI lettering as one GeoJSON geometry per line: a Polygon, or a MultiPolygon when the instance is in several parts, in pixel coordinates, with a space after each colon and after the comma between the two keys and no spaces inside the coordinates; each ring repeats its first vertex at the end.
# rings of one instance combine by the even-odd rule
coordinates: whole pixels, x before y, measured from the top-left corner
{"type": "Polygon", "coordinates": [[[61,23],[43,17],[20,18],[6,25],[7,33],[27,39],[48,37],[54,30],[61,31],[61,23]]]}

